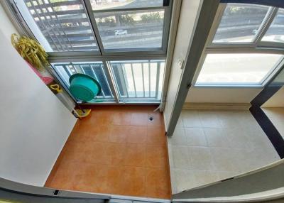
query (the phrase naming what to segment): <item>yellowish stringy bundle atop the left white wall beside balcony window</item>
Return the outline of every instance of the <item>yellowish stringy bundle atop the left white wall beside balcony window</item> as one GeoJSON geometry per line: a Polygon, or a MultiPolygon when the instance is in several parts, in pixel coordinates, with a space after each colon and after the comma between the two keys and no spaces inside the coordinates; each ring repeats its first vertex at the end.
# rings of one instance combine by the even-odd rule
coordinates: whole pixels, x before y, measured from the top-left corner
{"type": "Polygon", "coordinates": [[[49,65],[48,54],[45,53],[43,47],[35,40],[26,36],[19,38],[16,33],[13,33],[11,35],[11,42],[23,59],[31,63],[33,67],[38,70],[44,70],[45,66],[49,65]]]}

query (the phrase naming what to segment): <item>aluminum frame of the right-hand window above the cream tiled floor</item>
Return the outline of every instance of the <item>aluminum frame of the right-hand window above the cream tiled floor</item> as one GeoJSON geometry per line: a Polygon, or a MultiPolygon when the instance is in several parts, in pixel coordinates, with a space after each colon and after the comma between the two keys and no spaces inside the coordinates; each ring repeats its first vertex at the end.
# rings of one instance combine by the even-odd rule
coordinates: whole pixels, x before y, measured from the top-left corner
{"type": "MultiPolygon", "coordinates": [[[[234,3],[235,4],[235,3],[234,3]]],[[[243,4],[243,3],[240,3],[243,4]]],[[[222,16],[226,9],[226,3],[220,3],[217,9],[217,13],[214,18],[214,22],[212,23],[211,30],[209,32],[207,42],[205,48],[202,52],[202,57],[200,58],[200,62],[197,65],[197,70],[195,72],[195,76],[192,80],[192,84],[194,87],[244,87],[244,88],[262,88],[265,87],[269,80],[277,74],[278,70],[284,65],[284,43],[270,43],[270,42],[261,42],[263,35],[266,34],[268,28],[271,26],[273,22],[278,8],[270,6],[266,16],[263,18],[263,22],[258,29],[258,33],[256,33],[253,41],[250,43],[213,43],[214,36],[217,32],[219,24],[221,23],[222,16]],[[197,84],[197,78],[200,75],[202,70],[202,66],[204,64],[205,58],[207,54],[210,53],[270,53],[270,54],[281,54],[283,57],[276,62],[275,66],[271,69],[270,72],[267,73],[266,77],[262,79],[261,84],[197,84]]]]}

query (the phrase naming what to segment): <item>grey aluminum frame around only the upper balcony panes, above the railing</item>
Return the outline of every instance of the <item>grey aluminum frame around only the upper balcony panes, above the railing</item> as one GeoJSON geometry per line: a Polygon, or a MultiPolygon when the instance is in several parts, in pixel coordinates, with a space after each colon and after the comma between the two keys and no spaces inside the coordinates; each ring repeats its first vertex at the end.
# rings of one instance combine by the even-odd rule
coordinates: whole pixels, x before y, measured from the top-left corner
{"type": "MultiPolygon", "coordinates": [[[[20,25],[22,33],[28,35],[28,37],[35,38],[35,35],[28,27],[23,16],[21,16],[20,11],[18,11],[17,6],[13,0],[4,1],[5,4],[9,7],[10,15],[12,18],[16,18],[16,22],[20,25]]],[[[84,56],[122,56],[122,55],[166,55],[168,50],[168,38],[170,32],[170,18],[172,14],[173,0],[169,0],[168,5],[155,6],[155,7],[142,7],[142,8],[133,8],[133,9],[103,9],[103,10],[92,10],[92,5],[89,0],[82,1],[84,10],[86,11],[87,18],[89,19],[90,27],[94,33],[95,40],[97,42],[98,51],[67,51],[67,52],[48,52],[50,57],[80,57],[84,56]],[[99,34],[99,29],[97,27],[96,20],[94,18],[94,13],[99,12],[115,12],[115,11],[141,11],[141,10],[155,10],[163,9],[164,10],[164,21],[163,21],[163,36],[162,36],[162,47],[161,48],[133,48],[133,49],[111,49],[106,51],[102,44],[102,38],[99,34]]]]}

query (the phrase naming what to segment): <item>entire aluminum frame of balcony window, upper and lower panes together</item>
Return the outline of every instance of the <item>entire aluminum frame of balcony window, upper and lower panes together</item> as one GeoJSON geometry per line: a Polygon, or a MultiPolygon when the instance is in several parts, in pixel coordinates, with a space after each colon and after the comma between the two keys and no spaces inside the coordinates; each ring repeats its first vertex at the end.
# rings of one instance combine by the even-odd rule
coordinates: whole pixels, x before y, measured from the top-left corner
{"type": "MultiPolygon", "coordinates": [[[[173,9],[173,0],[164,0],[164,3],[168,2],[168,5],[163,6],[155,6],[155,7],[143,7],[143,8],[129,8],[129,9],[109,9],[109,11],[136,11],[136,10],[154,10],[154,9],[163,9],[164,10],[164,21],[163,21],[163,36],[162,36],[162,47],[161,48],[137,48],[137,49],[125,49],[125,50],[114,50],[114,51],[105,51],[104,46],[102,45],[102,39],[99,35],[99,30],[97,28],[97,23],[94,19],[95,12],[107,12],[108,10],[92,10],[92,5],[90,1],[82,1],[82,5],[86,11],[87,18],[89,18],[89,23],[91,29],[94,33],[94,38],[97,42],[97,47],[99,50],[97,51],[67,51],[67,52],[48,52],[48,62],[50,62],[51,72],[53,75],[59,80],[60,84],[66,89],[67,93],[70,93],[68,87],[66,86],[64,79],[60,77],[60,74],[53,68],[51,64],[58,62],[95,62],[100,61],[103,62],[104,72],[106,73],[107,80],[109,82],[109,86],[112,94],[114,95],[114,101],[104,101],[102,103],[82,103],[81,101],[77,101],[74,97],[72,99],[76,101],[77,104],[160,104],[160,101],[154,101],[153,99],[141,99],[137,101],[137,99],[129,99],[129,101],[121,101],[119,99],[119,89],[116,87],[116,82],[114,81],[114,77],[111,74],[111,60],[165,60],[168,50],[168,40],[170,33],[170,20],[173,9]]],[[[2,3],[2,2],[1,2],[2,3]]],[[[15,2],[13,0],[6,0],[3,2],[6,7],[6,10],[9,11],[9,17],[11,21],[16,24],[16,27],[19,29],[19,33],[21,35],[27,35],[34,40],[35,35],[28,27],[23,16],[21,16],[20,11],[18,11],[15,2]]],[[[165,68],[167,66],[165,65],[165,68]]],[[[166,71],[166,70],[165,70],[166,71]]],[[[164,86],[164,77],[163,75],[163,83],[162,83],[162,95],[163,95],[163,86],[164,86]]]]}

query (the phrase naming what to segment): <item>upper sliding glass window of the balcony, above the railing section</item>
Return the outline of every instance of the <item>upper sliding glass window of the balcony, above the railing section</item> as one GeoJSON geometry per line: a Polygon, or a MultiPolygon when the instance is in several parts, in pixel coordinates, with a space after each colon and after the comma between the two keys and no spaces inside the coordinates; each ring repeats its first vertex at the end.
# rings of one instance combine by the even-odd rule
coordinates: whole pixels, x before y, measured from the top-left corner
{"type": "Polygon", "coordinates": [[[11,2],[47,52],[166,53],[163,40],[168,40],[170,4],[161,0],[11,2]]]}

